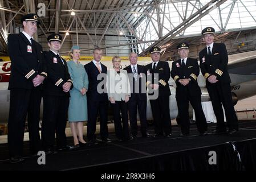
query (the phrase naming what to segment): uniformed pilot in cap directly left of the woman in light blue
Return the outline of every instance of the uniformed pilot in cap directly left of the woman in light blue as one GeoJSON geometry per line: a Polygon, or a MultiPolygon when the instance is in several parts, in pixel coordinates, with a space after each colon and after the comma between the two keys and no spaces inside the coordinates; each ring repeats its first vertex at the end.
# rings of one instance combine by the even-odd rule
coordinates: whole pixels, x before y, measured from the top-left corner
{"type": "Polygon", "coordinates": [[[67,111],[73,82],[66,61],[60,57],[62,36],[51,34],[47,38],[50,51],[44,52],[48,79],[43,86],[42,143],[46,154],[54,152],[55,130],[58,151],[71,150],[66,139],[67,111]]]}

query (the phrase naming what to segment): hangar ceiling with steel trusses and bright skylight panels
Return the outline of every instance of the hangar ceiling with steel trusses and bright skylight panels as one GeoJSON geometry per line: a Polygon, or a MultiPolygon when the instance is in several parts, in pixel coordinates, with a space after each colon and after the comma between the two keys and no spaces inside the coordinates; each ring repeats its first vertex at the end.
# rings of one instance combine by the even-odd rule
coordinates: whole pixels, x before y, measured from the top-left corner
{"type": "MultiPolygon", "coordinates": [[[[21,16],[34,12],[42,22],[39,37],[52,32],[66,37],[68,32],[79,39],[84,34],[98,46],[105,35],[124,36],[123,45],[133,45],[132,51],[140,56],[147,55],[151,46],[173,55],[184,40],[201,45],[205,26],[216,27],[218,40],[230,39],[231,47],[237,47],[239,36],[255,33],[256,28],[255,0],[0,0],[1,55],[7,55],[7,35],[21,31],[21,16]]],[[[122,45],[112,47],[117,46],[122,45]]]]}

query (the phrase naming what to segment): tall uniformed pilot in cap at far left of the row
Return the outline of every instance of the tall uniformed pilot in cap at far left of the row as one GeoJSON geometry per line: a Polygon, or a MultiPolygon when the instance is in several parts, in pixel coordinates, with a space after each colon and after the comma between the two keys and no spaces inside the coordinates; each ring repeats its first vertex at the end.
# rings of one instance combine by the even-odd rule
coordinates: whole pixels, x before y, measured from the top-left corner
{"type": "Polygon", "coordinates": [[[32,38],[40,23],[36,14],[22,17],[23,31],[8,36],[11,59],[9,82],[10,111],[8,144],[10,162],[21,162],[26,116],[28,114],[30,150],[33,155],[40,150],[39,115],[40,86],[47,77],[42,46],[32,38]]]}

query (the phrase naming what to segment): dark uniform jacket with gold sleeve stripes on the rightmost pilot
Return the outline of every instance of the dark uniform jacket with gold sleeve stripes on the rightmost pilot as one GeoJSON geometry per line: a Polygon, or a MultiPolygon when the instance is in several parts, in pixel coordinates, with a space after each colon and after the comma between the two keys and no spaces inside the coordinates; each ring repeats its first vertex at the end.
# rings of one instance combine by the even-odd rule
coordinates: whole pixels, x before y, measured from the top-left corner
{"type": "Polygon", "coordinates": [[[207,48],[200,51],[200,68],[202,75],[206,79],[210,75],[216,75],[220,83],[230,83],[229,73],[227,72],[227,49],[225,44],[213,43],[212,55],[208,56],[207,48]]]}

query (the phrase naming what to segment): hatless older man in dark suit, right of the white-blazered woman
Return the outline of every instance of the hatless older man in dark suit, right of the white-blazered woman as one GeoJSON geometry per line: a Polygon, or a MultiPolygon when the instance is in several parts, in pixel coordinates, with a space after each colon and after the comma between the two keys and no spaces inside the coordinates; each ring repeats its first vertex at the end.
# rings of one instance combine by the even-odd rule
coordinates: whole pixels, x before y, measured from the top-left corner
{"type": "Polygon", "coordinates": [[[128,102],[129,120],[132,131],[132,138],[137,138],[137,109],[140,114],[140,130],[142,137],[150,137],[147,133],[147,94],[145,87],[144,66],[137,64],[137,54],[130,53],[129,60],[131,65],[124,69],[128,73],[131,85],[131,97],[128,102]]]}

